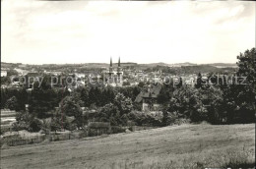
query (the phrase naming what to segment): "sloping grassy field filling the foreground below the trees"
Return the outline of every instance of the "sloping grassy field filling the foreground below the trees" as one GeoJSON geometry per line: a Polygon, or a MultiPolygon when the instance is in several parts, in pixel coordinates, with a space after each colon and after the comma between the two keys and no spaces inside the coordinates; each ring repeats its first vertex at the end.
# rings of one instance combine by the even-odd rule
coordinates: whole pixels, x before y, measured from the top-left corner
{"type": "Polygon", "coordinates": [[[181,125],[1,149],[1,168],[253,168],[255,124],[181,125]]]}

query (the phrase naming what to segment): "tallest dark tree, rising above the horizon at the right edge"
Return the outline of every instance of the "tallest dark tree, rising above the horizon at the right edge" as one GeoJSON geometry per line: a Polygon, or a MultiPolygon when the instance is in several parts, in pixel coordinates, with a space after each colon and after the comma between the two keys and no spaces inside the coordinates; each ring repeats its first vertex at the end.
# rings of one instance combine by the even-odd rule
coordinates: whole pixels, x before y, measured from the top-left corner
{"type": "Polygon", "coordinates": [[[242,123],[254,122],[256,105],[256,49],[246,50],[237,56],[238,82],[233,85],[238,92],[235,96],[238,121],[242,123]],[[245,82],[242,81],[245,79],[245,82]],[[242,83],[242,84],[241,84],[242,83]]]}

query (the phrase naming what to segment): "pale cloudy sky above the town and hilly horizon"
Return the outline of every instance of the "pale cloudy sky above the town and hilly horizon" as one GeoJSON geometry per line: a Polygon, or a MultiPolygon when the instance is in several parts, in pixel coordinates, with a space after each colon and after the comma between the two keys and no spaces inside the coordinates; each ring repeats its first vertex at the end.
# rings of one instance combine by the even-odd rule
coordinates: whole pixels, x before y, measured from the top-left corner
{"type": "Polygon", "coordinates": [[[1,61],[235,63],[255,47],[253,1],[1,1],[1,61]]]}

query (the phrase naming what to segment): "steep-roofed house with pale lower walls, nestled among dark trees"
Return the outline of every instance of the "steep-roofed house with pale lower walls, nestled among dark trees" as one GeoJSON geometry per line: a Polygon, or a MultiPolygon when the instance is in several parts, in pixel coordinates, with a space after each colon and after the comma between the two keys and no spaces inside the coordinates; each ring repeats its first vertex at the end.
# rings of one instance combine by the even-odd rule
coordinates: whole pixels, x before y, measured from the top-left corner
{"type": "Polygon", "coordinates": [[[158,110],[160,104],[158,103],[158,96],[160,94],[161,84],[151,84],[145,90],[137,95],[135,102],[142,103],[143,111],[158,110]]]}

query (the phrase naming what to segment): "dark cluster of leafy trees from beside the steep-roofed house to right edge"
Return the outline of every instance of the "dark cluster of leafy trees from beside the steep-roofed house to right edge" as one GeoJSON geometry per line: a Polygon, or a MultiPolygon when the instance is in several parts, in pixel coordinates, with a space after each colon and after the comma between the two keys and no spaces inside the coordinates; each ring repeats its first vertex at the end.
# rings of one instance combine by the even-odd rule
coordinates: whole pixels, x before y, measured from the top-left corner
{"type": "Polygon", "coordinates": [[[188,118],[193,122],[254,123],[255,48],[240,53],[237,59],[238,71],[229,80],[225,76],[218,79],[217,76],[211,75],[214,78],[211,78],[209,83],[203,81],[199,74],[195,87],[183,86],[173,92],[165,110],[175,112],[177,118],[188,118]]]}

